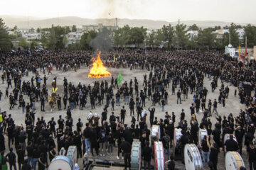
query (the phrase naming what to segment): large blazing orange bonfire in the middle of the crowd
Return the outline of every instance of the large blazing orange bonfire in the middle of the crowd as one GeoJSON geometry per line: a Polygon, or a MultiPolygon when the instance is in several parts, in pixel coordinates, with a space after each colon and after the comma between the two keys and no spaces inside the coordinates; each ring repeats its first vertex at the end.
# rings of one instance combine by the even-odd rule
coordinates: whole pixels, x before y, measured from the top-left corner
{"type": "Polygon", "coordinates": [[[97,60],[92,59],[94,61],[92,63],[92,68],[90,69],[88,77],[102,78],[111,76],[110,72],[107,72],[107,68],[104,66],[102,60],[100,60],[100,54],[101,52],[97,54],[97,60]]]}

